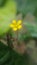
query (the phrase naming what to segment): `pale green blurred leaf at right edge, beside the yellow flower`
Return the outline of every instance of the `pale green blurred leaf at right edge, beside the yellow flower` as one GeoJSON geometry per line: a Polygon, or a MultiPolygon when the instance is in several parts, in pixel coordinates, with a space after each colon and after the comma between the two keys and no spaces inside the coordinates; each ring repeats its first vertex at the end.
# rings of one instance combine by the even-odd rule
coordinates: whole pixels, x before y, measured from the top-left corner
{"type": "Polygon", "coordinates": [[[25,26],[32,37],[37,37],[37,23],[25,22],[25,26]]]}

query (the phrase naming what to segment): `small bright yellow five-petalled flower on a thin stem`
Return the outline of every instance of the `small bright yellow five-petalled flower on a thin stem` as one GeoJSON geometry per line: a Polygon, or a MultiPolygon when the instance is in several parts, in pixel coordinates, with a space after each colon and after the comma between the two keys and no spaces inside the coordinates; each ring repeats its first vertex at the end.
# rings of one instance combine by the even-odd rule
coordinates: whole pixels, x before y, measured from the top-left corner
{"type": "Polygon", "coordinates": [[[21,20],[18,20],[17,22],[16,20],[13,20],[12,24],[10,24],[10,27],[13,29],[13,31],[17,31],[22,28],[21,24],[22,24],[21,20]]]}

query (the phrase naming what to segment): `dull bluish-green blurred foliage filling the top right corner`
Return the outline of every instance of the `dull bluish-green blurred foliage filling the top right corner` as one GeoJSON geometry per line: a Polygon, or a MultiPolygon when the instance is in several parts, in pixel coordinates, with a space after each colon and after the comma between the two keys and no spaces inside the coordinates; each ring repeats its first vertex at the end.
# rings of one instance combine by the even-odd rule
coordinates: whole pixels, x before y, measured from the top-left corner
{"type": "Polygon", "coordinates": [[[28,12],[34,14],[37,0],[17,0],[17,10],[26,15],[28,12]]]}

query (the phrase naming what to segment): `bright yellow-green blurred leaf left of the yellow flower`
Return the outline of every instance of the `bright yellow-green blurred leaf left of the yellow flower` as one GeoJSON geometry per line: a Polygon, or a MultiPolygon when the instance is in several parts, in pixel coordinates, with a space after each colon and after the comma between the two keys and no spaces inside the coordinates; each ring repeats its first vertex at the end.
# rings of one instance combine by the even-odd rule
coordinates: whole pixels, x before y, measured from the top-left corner
{"type": "Polygon", "coordinates": [[[8,0],[4,7],[0,7],[0,35],[6,33],[10,23],[16,16],[16,2],[8,0]]]}

